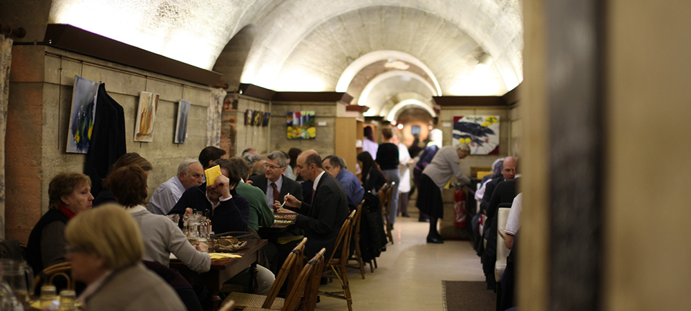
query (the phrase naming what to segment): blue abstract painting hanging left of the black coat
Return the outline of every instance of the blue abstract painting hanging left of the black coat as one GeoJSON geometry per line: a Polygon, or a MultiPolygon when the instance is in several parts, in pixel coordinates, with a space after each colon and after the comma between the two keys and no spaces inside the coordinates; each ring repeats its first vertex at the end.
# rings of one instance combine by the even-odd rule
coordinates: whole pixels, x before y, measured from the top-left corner
{"type": "Polygon", "coordinates": [[[86,153],[91,141],[93,119],[96,113],[98,83],[75,75],[72,109],[67,138],[67,152],[86,153]]]}

